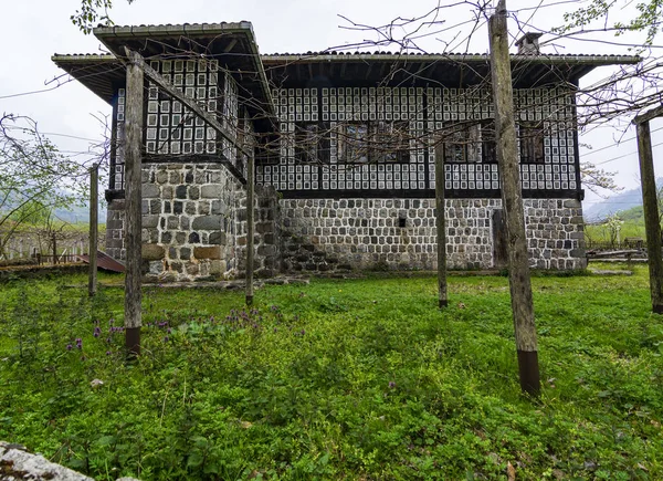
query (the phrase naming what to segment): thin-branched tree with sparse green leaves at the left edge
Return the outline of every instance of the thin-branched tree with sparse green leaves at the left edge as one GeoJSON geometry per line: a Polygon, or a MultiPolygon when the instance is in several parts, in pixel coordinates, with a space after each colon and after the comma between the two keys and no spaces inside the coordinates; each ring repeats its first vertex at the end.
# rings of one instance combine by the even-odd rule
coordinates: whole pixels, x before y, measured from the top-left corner
{"type": "Polygon", "coordinates": [[[81,199],[85,169],[62,155],[30,117],[0,117],[0,255],[24,224],[81,199]]]}

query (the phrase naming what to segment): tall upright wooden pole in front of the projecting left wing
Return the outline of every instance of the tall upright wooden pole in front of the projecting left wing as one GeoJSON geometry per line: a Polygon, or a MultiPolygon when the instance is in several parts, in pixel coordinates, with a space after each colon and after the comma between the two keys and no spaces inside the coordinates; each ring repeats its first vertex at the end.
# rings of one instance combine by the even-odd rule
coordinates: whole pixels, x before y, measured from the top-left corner
{"type": "Polygon", "coordinates": [[[140,230],[143,149],[143,69],[127,63],[127,105],[125,113],[125,345],[128,357],[140,354],[140,230]]]}

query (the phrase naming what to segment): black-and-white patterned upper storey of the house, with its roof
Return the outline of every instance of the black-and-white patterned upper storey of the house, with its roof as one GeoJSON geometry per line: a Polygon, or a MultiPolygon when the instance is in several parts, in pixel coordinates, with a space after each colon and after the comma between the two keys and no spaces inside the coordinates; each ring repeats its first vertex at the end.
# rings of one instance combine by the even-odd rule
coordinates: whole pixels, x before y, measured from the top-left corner
{"type": "MultiPolygon", "coordinates": [[[[112,190],[124,186],[126,49],[204,107],[221,139],[146,81],[147,161],[223,161],[242,178],[241,145],[256,146],[256,181],[284,196],[431,196],[443,155],[450,197],[495,197],[499,176],[487,54],[260,55],[251,23],[104,27],[110,53],[53,61],[114,107],[112,190]],[[230,140],[229,140],[230,139],[230,140]],[[440,146],[442,148],[440,148],[440,146]]],[[[628,55],[549,55],[538,35],[511,56],[525,196],[580,196],[575,91],[628,55]]]]}

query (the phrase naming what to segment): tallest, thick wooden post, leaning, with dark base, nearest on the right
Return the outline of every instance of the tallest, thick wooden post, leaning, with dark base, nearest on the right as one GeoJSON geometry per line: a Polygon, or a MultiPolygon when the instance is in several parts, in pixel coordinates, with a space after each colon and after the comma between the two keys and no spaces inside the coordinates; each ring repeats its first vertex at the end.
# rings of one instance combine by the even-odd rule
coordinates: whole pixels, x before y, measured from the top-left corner
{"type": "Polygon", "coordinates": [[[505,0],[499,0],[497,3],[495,14],[488,21],[488,31],[493,102],[495,103],[495,133],[497,134],[497,160],[502,179],[502,202],[506,218],[508,280],[518,352],[520,388],[524,393],[537,396],[540,389],[538,348],[525,237],[523,192],[518,170],[505,0]]]}

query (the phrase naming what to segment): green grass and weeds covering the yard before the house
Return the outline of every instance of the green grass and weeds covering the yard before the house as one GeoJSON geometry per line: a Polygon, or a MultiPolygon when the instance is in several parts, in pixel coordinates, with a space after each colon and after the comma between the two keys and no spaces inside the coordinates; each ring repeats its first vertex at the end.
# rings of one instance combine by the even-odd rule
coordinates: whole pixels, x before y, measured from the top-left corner
{"type": "Polygon", "coordinates": [[[134,364],[108,333],[120,289],[4,284],[0,439],[98,479],[662,479],[646,279],[533,279],[539,400],[506,278],[451,278],[443,312],[428,276],[265,286],[249,312],[242,292],[149,287],[134,364]]]}

